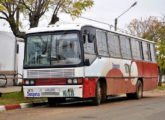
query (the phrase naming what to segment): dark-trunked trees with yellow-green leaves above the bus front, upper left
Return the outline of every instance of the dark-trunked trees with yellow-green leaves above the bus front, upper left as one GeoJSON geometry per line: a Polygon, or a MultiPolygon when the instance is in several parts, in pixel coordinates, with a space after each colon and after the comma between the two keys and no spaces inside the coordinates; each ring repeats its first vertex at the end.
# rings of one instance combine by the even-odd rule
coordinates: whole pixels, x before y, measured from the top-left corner
{"type": "Polygon", "coordinates": [[[53,9],[49,24],[59,21],[58,13],[65,12],[79,17],[83,11],[92,7],[93,0],[0,0],[0,19],[6,20],[16,37],[24,37],[20,31],[20,14],[28,16],[30,28],[37,27],[40,18],[53,9]]]}

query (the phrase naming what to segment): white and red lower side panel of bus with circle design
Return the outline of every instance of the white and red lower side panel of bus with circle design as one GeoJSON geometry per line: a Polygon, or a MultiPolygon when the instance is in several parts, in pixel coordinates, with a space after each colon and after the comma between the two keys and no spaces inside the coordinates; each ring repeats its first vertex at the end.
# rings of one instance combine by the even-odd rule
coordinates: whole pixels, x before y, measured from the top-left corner
{"type": "Polygon", "coordinates": [[[144,91],[157,86],[157,64],[116,58],[97,58],[85,67],[85,77],[106,79],[107,95],[136,91],[138,79],[143,80],[144,91]]]}

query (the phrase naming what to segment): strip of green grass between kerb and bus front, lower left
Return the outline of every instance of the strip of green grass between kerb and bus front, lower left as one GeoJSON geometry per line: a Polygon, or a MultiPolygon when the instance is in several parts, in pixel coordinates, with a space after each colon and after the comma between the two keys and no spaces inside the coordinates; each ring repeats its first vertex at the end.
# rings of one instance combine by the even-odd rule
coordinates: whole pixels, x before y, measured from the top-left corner
{"type": "Polygon", "coordinates": [[[41,101],[46,101],[46,98],[25,98],[22,92],[6,93],[2,94],[2,97],[0,97],[0,105],[31,103],[41,101]]]}

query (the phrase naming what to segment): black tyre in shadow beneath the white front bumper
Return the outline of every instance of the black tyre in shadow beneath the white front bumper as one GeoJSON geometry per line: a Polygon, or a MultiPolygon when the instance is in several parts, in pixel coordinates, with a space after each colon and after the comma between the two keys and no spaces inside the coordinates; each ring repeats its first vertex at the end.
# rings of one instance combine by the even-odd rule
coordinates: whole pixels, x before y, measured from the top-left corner
{"type": "Polygon", "coordinates": [[[48,98],[48,104],[50,107],[56,106],[59,103],[65,102],[65,98],[48,98]]]}

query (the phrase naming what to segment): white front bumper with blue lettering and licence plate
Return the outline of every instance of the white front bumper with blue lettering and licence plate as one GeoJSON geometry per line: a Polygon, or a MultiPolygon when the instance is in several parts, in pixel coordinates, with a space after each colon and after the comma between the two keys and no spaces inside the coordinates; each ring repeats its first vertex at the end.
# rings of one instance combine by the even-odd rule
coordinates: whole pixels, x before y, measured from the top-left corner
{"type": "Polygon", "coordinates": [[[83,97],[83,85],[23,86],[25,97],[83,97]]]}

